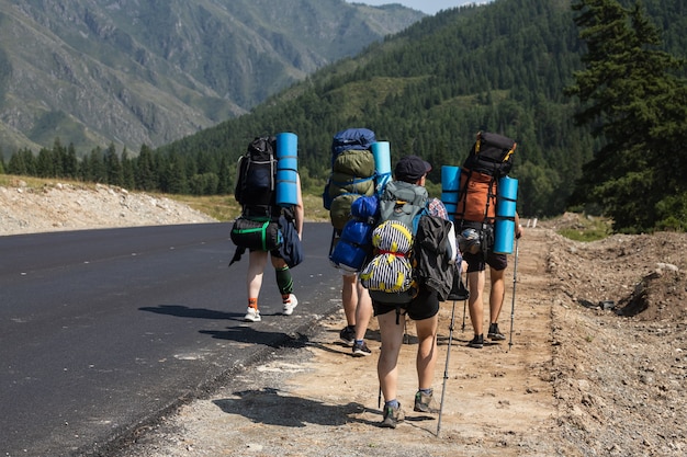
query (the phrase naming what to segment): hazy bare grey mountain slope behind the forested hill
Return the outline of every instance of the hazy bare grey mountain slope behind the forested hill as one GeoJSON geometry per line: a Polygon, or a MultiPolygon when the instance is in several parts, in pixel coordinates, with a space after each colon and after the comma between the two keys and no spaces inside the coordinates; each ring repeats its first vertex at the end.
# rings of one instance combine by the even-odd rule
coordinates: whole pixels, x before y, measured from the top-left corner
{"type": "Polygon", "coordinates": [[[0,147],[159,146],[421,16],[342,0],[0,0],[0,147]]]}

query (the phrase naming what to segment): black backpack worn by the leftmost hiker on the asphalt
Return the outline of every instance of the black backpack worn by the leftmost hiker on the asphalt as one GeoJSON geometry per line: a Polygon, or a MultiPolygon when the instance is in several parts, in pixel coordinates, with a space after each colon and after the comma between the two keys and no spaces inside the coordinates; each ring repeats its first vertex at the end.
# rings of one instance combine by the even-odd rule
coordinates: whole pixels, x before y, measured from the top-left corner
{"type": "Polygon", "coordinates": [[[271,217],[277,206],[275,150],[275,137],[258,137],[238,159],[234,196],[247,217],[271,217]]]}

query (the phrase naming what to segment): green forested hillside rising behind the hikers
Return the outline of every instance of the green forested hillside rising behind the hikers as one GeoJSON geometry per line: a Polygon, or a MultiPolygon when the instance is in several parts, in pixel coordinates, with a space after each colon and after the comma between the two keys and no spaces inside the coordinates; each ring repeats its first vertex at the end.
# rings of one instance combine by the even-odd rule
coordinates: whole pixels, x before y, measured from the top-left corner
{"type": "MultiPolygon", "coordinates": [[[[592,126],[574,124],[578,100],[564,95],[586,50],[571,3],[497,0],[425,18],[249,114],[156,150],[142,148],[133,163],[122,161],[131,176],[124,183],[166,192],[230,193],[234,164],[250,139],[293,132],[303,184],[320,192],[331,136],[365,126],[391,142],[394,160],[416,153],[431,161],[429,187],[436,195],[440,165],[461,164],[475,133],[486,129],[518,142],[511,175],[520,183],[519,213],[560,214],[583,164],[599,146],[592,126]]],[[[687,7],[682,0],[644,4],[663,33],[665,50],[684,57],[687,7]]],[[[117,157],[111,150],[104,156],[110,162],[117,157]]],[[[101,157],[89,157],[83,169],[101,167],[101,157]]]]}

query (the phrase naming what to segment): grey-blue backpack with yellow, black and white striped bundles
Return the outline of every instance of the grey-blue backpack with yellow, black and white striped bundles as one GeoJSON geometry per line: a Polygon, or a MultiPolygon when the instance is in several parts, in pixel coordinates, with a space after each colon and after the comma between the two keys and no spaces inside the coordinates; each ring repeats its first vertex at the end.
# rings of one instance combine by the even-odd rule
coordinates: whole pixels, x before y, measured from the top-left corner
{"type": "Polygon", "coordinates": [[[380,201],[380,220],[372,231],[376,254],[360,273],[372,299],[407,304],[417,296],[414,236],[420,217],[427,214],[428,198],[424,186],[401,181],[386,184],[380,201]]]}

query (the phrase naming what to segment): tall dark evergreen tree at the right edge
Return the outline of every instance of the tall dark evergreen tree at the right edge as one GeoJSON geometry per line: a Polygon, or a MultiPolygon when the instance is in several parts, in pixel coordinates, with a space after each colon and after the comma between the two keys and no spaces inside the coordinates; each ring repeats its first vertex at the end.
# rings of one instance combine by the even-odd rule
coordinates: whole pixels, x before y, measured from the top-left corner
{"type": "Polygon", "coordinates": [[[665,217],[658,204],[687,192],[687,84],[672,72],[684,62],[658,49],[640,4],[578,0],[573,10],[587,54],[566,92],[585,103],[577,123],[592,125],[602,141],[584,167],[576,201],[598,204],[617,231],[653,230],[665,217]]]}

